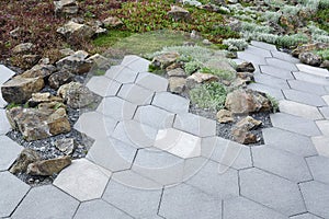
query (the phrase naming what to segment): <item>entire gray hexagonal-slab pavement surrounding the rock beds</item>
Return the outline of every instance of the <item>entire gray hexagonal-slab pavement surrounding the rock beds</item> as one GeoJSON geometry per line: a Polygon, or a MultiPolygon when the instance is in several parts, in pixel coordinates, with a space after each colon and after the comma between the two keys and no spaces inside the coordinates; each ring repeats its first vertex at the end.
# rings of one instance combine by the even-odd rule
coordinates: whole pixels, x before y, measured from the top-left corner
{"type": "MultiPolygon", "coordinates": [[[[87,158],[33,188],[7,171],[22,147],[4,136],[0,97],[0,217],[328,219],[329,72],[259,42],[242,60],[257,68],[250,88],[280,100],[265,145],[216,137],[214,120],[189,113],[147,60],[126,56],[87,84],[103,96],[75,125],[95,139],[87,158]]],[[[13,72],[0,68],[3,83],[13,72]]]]}

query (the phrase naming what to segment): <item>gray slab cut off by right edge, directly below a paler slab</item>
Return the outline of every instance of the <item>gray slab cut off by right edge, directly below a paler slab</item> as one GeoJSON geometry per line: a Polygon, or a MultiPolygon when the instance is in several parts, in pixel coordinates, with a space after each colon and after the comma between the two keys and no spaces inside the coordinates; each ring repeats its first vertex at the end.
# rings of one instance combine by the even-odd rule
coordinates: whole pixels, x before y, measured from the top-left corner
{"type": "Polygon", "coordinates": [[[314,180],[329,185],[329,158],[315,155],[306,158],[306,162],[314,180]]]}

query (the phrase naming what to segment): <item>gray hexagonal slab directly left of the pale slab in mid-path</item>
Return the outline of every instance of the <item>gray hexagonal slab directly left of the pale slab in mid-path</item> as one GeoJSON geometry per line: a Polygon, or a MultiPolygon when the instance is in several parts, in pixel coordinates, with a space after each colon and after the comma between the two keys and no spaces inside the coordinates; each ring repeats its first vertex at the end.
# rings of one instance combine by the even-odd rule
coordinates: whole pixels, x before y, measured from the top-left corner
{"type": "Polygon", "coordinates": [[[123,120],[117,124],[112,137],[135,148],[147,148],[155,143],[158,130],[136,120],[123,120]]]}

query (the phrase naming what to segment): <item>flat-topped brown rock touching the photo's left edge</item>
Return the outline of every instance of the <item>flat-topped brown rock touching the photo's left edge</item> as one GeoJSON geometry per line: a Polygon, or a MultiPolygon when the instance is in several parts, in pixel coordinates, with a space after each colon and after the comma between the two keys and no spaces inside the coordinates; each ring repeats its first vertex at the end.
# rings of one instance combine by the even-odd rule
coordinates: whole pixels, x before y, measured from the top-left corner
{"type": "Polygon", "coordinates": [[[8,103],[25,103],[32,93],[38,92],[45,83],[42,78],[23,78],[16,76],[1,87],[2,97],[8,103]]]}

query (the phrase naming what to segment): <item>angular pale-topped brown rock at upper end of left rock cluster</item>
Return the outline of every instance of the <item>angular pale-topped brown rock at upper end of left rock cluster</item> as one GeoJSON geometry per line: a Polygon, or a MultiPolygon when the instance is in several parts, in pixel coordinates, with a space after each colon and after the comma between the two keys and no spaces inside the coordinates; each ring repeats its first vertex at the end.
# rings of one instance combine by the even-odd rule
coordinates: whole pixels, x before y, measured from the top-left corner
{"type": "Polygon", "coordinates": [[[88,53],[78,50],[73,55],[65,57],[56,62],[56,67],[61,71],[69,71],[72,73],[86,73],[92,66],[91,60],[87,60],[88,53]]]}

